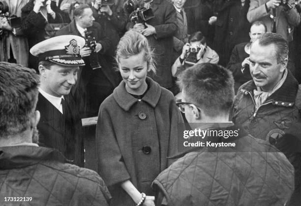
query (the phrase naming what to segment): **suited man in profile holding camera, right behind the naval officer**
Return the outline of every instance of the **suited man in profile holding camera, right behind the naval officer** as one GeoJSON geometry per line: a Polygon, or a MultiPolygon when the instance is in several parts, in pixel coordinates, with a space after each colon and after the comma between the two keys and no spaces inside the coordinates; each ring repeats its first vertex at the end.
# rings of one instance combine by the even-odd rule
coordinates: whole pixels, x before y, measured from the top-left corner
{"type": "Polygon", "coordinates": [[[74,20],[56,34],[86,38],[86,46],[80,50],[86,65],[79,74],[77,87],[71,91],[82,117],[96,116],[100,103],[119,83],[117,73],[104,57],[111,42],[101,25],[94,21],[92,14],[89,5],[80,4],[74,10],[74,20]]]}

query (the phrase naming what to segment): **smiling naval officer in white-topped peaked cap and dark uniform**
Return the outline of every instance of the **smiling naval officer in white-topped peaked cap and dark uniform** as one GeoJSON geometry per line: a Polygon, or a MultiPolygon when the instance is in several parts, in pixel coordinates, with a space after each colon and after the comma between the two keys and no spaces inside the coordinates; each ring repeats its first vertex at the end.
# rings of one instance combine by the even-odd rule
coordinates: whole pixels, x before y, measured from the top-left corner
{"type": "Polygon", "coordinates": [[[66,97],[77,81],[79,52],[85,39],[62,35],[44,40],[30,49],[39,59],[40,87],[36,109],[39,145],[58,149],[69,163],[84,166],[82,123],[72,98],[66,97]]]}

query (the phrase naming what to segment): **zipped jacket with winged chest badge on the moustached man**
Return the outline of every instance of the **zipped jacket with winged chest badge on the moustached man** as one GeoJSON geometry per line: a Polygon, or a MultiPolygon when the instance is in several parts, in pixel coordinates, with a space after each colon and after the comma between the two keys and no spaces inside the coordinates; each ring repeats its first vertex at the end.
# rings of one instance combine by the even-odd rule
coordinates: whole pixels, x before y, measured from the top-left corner
{"type": "MultiPolygon", "coordinates": [[[[257,111],[253,102],[254,89],[256,86],[253,80],[241,86],[234,101],[232,120],[252,136],[275,143],[275,146],[284,152],[295,168],[294,196],[299,197],[297,201],[299,202],[301,201],[301,149],[289,148],[287,145],[294,144],[296,141],[284,134],[298,137],[298,142],[295,144],[301,146],[301,86],[288,70],[283,85],[257,111]],[[277,144],[279,137],[286,137],[284,140],[287,142],[284,146],[277,144]]],[[[295,201],[295,198],[293,199],[295,201]]]]}

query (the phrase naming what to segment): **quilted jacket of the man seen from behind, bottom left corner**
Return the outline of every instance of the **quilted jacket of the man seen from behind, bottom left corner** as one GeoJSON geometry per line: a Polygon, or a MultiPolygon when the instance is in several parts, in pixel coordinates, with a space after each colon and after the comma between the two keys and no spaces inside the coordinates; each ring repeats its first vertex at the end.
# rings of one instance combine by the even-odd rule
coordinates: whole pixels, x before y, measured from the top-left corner
{"type": "Polygon", "coordinates": [[[60,163],[55,153],[45,147],[0,147],[0,205],[107,206],[111,196],[100,176],[60,163]],[[32,201],[4,202],[4,197],[32,201]]]}

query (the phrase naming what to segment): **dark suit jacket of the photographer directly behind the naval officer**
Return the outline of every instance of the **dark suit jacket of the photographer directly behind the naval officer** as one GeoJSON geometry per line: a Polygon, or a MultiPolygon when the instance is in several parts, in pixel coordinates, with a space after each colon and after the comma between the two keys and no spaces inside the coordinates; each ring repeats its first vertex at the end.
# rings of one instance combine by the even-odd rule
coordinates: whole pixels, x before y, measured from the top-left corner
{"type": "MultiPolygon", "coordinates": [[[[104,75],[107,77],[109,82],[112,84],[112,86],[115,88],[119,84],[120,78],[117,72],[112,68],[112,66],[106,61],[106,59],[102,55],[111,47],[111,41],[109,40],[109,38],[105,36],[103,28],[97,22],[93,22],[93,25],[87,28],[87,30],[88,32],[92,32],[93,36],[95,37],[95,40],[102,45],[102,49],[100,50],[98,55],[98,60],[102,67],[101,70],[104,73],[104,75]]],[[[76,28],[75,20],[73,20],[66,27],[59,30],[56,33],[56,36],[59,35],[82,36],[76,28]]],[[[85,38],[85,36],[82,37],[85,38]]],[[[86,66],[84,66],[83,68],[83,71],[81,73],[81,78],[83,80],[83,83],[87,84],[91,78],[92,69],[90,67],[89,57],[83,59],[86,63],[86,66]]]]}

